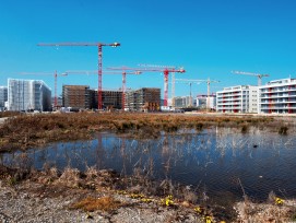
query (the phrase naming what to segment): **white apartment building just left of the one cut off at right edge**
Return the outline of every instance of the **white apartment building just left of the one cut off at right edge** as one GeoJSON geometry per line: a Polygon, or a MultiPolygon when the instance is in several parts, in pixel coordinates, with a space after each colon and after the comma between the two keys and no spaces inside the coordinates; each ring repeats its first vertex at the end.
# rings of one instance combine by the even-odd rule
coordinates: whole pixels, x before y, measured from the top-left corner
{"type": "Polygon", "coordinates": [[[218,113],[258,113],[258,86],[238,85],[216,92],[218,113]]]}

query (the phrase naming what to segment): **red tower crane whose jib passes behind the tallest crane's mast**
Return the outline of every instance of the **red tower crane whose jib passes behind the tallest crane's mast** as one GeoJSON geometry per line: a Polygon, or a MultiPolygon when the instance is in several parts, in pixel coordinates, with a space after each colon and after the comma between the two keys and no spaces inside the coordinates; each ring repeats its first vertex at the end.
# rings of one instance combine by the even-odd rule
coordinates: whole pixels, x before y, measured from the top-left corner
{"type": "MultiPolygon", "coordinates": [[[[87,71],[87,70],[69,70],[66,71],[64,73],[67,74],[71,74],[71,73],[85,73],[85,74],[96,74],[97,72],[95,70],[93,71],[87,71]]],[[[103,71],[103,73],[106,74],[122,74],[122,110],[125,110],[125,105],[126,105],[126,91],[127,91],[127,74],[135,74],[139,75],[142,72],[141,71],[133,71],[133,72],[127,72],[126,70],[122,70],[122,72],[120,71],[103,71]]]]}

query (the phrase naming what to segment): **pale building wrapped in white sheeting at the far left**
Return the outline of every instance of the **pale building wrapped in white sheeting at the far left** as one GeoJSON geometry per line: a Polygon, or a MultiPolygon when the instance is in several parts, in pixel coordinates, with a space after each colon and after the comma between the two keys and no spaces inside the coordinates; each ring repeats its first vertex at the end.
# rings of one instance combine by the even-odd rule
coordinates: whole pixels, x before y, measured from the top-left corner
{"type": "Polygon", "coordinates": [[[51,110],[51,90],[44,81],[8,80],[9,110],[51,110]]]}

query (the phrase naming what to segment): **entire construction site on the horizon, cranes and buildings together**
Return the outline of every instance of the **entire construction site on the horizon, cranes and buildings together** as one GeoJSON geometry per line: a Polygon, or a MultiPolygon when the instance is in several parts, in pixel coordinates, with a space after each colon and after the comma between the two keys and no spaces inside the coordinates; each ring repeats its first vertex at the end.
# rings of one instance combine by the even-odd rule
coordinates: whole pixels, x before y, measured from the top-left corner
{"type": "MultiPolygon", "coordinates": [[[[232,71],[234,74],[252,75],[258,79],[258,85],[237,85],[224,87],[212,92],[210,85],[218,83],[218,80],[175,79],[175,73],[186,73],[183,68],[159,64],[139,64],[139,67],[108,67],[103,70],[103,47],[119,47],[119,43],[55,43],[38,44],[42,47],[97,47],[98,62],[97,70],[64,71],[58,73],[46,72],[23,72],[21,74],[52,75],[55,79],[54,103],[51,103],[51,90],[42,81],[14,80],[9,82],[7,98],[0,98],[0,109],[9,110],[58,110],[61,107],[72,110],[97,109],[97,110],[122,110],[122,111],[174,111],[176,109],[190,108],[190,110],[205,109],[206,111],[218,113],[241,113],[241,114],[294,114],[296,113],[296,101],[294,95],[294,79],[283,79],[271,81],[262,85],[262,78],[269,74],[251,73],[245,71],[232,71]],[[161,72],[164,79],[164,89],[142,87],[127,91],[127,75],[139,75],[142,73],[161,72]],[[62,85],[62,103],[58,103],[58,77],[72,74],[95,74],[97,75],[97,89],[90,85],[62,85]],[[103,87],[102,77],[109,74],[122,75],[122,85],[118,90],[107,90],[103,87]],[[171,75],[170,98],[168,96],[169,75],[171,75]],[[14,84],[15,82],[15,84],[14,84]],[[38,82],[38,84],[37,84],[38,82]],[[16,84],[17,83],[17,84],[16,84]],[[206,84],[206,94],[193,94],[193,84],[206,84]],[[37,84],[37,85],[36,85],[37,84]],[[187,84],[189,95],[175,96],[175,85],[187,84]],[[279,86],[277,86],[277,85],[279,86]],[[272,87],[271,87],[272,85],[272,87]],[[276,85],[276,86],[274,86],[276,85]],[[39,87],[39,89],[38,89],[39,87]],[[38,89],[38,90],[37,90],[38,89]],[[267,89],[267,90],[264,90],[267,89]],[[273,90],[274,89],[274,90],[273,90]],[[238,90],[238,91],[236,91],[238,90]],[[273,91],[283,91],[273,99],[273,91]],[[269,92],[269,94],[265,94],[269,92]],[[202,97],[199,95],[203,95],[202,97]],[[285,96],[282,98],[282,96],[285,96]],[[49,98],[50,97],[50,98],[49,98]],[[7,99],[7,101],[5,101],[7,99]],[[49,105],[52,104],[52,105],[49,105]],[[7,105],[7,106],[5,106],[7,105]],[[192,109],[191,109],[192,108],[192,109]]],[[[5,87],[5,86],[3,86],[5,87]]],[[[2,89],[3,89],[2,87],[2,89]]],[[[116,87],[116,86],[115,86],[116,87]]],[[[4,95],[4,94],[3,94],[4,95]]]]}

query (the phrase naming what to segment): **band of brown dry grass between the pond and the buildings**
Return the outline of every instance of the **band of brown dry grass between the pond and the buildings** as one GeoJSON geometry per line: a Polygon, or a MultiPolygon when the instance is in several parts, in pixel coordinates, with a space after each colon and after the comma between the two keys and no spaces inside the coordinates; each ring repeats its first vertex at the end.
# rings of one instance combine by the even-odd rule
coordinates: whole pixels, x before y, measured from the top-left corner
{"type": "Polygon", "coordinates": [[[134,138],[157,138],[161,131],[176,132],[209,127],[248,129],[279,126],[267,117],[186,116],[167,114],[40,114],[9,118],[0,126],[0,152],[40,146],[55,141],[92,139],[93,133],[109,130],[134,138]]]}

